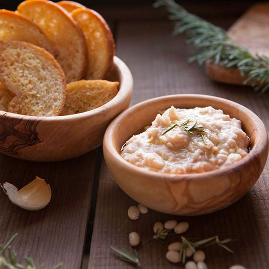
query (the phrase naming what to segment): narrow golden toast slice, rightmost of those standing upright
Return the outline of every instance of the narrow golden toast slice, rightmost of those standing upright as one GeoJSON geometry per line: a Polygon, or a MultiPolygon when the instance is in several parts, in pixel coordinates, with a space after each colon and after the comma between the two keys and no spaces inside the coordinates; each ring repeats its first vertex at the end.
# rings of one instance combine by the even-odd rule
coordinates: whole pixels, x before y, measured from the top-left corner
{"type": "Polygon", "coordinates": [[[76,9],[71,13],[85,35],[88,46],[87,79],[104,79],[113,68],[115,44],[109,25],[97,12],[76,9]]]}

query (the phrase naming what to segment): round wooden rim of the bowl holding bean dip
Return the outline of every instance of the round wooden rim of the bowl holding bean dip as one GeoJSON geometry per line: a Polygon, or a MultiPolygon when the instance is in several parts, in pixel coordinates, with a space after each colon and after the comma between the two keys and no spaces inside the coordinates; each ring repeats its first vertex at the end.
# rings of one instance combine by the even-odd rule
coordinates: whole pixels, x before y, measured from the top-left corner
{"type": "MultiPolygon", "coordinates": [[[[213,107],[214,108],[214,107],[213,107]]],[[[155,98],[151,98],[142,102],[139,102],[131,107],[129,107],[129,109],[127,109],[126,111],[124,111],[123,113],[121,113],[118,117],[116,117],[109,125],[109,127],[107,127],[105,134],[104,134],[104,138],[103,138],[103,151],[104,151],[104,156],[105,156],[105,149],[107,148],[110,151],[110,156],[116,159],[116,162],[118,163],[118,165],[120,165],[120,167],[122,168],[128,168],[128,170],[134,170],[136,173],[139,173],[142,176],[145,177],[151,177],[151,178],[158,178],[158,179],[165,179],[165,180],[193,180],[193,179],[203,179],[205,177],[221,177],[221,176],[226,176],[229,172],[231,171],[237,171],[239,169],[241,169],[242,167],[245,167],[246,164],[251,163],[253,160],[253,157],[258,156],[262,151],[263,148],[266,149],[267,147],[267,155],[268,155],[268,134],[266,131],[266,128],[263,124],[263,122],[259,119],[259,117],[253,113],[251,110],[247,109],[247,107],[231,101],[229,99],[225,99],[222,97],[217,97],[217,96],[212,96],[212,95],[205,95],[205,94],[173,94],[173,95],[164,95],[164,96],[159,96],[159,97],[155,97],[155,98]],[[159,100],[162,99],[172,99],[172,98],[186,98],[186,97],[190,97],[190,98],[202,98],[202,99],[209,99],[209,100],[218,100],[218,101],[222,101],[225,103],[230,103],[232,105],[236,105],[237,107],[240,107],[240,109],[243,109],[245,111],[248,112],[248,115],[250,115],[250,117],[255,118],[255,123],[259,123],[261,124],[262,129],[260,130],[262,134],[266,134],[266,139],[264,139],[264,141],[258,140],[260,143],[263,143],[263,147],[258,147],[257,143],[255,143],[251,149],[251,151],[241,160],[239,160],[237,163],[228,166],[227,168],[223,168],[223,169],[218,169],[218,170],[212,170],[212,171],[208,171],[208,172],[201,172],[201,173],[188,173],[188,174],[172,174],[172,173],[164,173],[164,172],[155,172],[155,171],[149,171],[149,170],[145,170],[141,167],[137,167],[131,163],[129,163],[127,160],[125,160],[120,153],[116,150],[116,148],[114,147],[114,143],[112,142],[113,139],[110,139],[113,135],[113,131],[114,128],[116,126],[119,125],[119,123],[125,118],[126,115],[128,115],[131,112],[134,112],[138,107],[144,106],[144,105],[148,105],[150,103],[154,103],[157,102],[159,100]]]]}

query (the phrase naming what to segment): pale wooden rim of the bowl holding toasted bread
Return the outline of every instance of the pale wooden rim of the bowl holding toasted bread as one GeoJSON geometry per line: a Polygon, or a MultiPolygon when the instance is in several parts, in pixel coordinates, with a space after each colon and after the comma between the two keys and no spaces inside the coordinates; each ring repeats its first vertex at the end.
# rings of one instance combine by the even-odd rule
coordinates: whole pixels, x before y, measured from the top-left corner
{"type": "Polygon", "coordinates": [[[7,111],[0,110],[0,117],[3,115],[7,115],[10,118],[16,118],[21,120],[29,120],[29,121],[49,121],[49,122],[55,122],[55,121],[73,121],[76,119],[84,119],[87,117],[92,117],[94,115],[102,114],[103,112],[112,109],[115,107],[118,103],[124,101],[127,97],[130,91],[133,89],[133,77],[131,74],[131,71],[127,67],[127,65],[117,56],[114,56],[114,68],[117,68],[119,70],[119,77],[120,77],[120,87],[118,94],[112,98],[109,102],[97,107],[96,109],[78,113],[78,114],[72,114],[72,115],[65,115],[65,116],[29,116],[29,115],[21,115],[16,113],[11,113],[7,111]]]}

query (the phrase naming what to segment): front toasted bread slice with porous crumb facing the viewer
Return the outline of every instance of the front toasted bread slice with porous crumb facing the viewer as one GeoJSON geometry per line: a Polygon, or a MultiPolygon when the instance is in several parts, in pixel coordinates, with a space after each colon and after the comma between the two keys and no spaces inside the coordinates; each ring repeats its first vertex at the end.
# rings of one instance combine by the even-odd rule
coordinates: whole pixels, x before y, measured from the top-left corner
{"type": "Polygon", "coordinates": [[[58,116],[65,97],[65,75],[45,49],[22,41],[1,42],[0,74],[16,96],[8,111],[30,116],[58,116]]]}

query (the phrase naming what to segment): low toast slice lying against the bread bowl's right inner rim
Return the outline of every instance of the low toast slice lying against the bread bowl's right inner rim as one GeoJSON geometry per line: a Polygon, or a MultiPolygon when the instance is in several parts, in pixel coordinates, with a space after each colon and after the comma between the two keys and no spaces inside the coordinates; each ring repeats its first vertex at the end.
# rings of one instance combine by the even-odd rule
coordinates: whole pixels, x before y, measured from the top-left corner
{"type": "Polygon", "coordinates": [[[67,85],[62,115],[71,115],[96,109],[118,93],[119,82],[107,80],[80,80],[67,85]]]}

